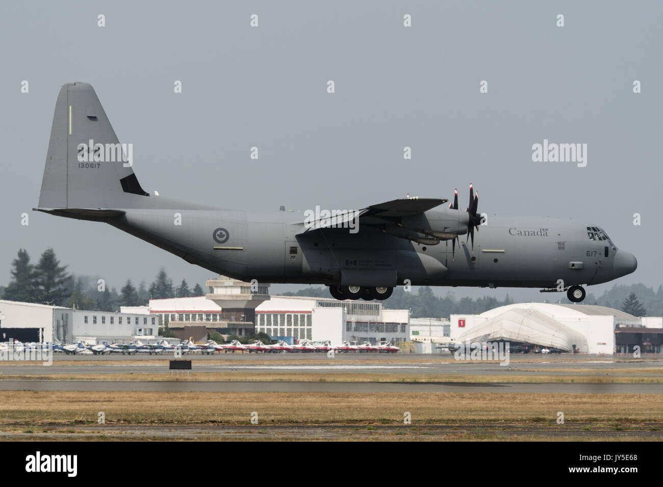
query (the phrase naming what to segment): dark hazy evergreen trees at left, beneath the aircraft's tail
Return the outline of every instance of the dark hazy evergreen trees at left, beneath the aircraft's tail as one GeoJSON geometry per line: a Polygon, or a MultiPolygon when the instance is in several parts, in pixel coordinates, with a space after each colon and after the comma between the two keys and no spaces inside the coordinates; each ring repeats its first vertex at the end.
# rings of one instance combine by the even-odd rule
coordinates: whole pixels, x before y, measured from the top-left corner
{"type": "Polygon", "coordinates": [[[179,286],[174,286],[164,269],[158,272],[149,288],[145,281],[141,281],[136,288],[128,279],[118,293],[116,288],[107,286],[104,280],[69,274],[67,267],[60,265],[52,248],[44,250],[36,264],[30,262],[27,250],[21,248],[12,261],[9,284],[3,290],[0,289],[0,298],[78,309],[117,311],[120,306],[147,305],[149,299],[188,298],[205,294],[200,284],[190,289],[186,279],[182,279],[179,286]]]}

